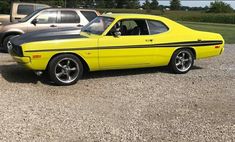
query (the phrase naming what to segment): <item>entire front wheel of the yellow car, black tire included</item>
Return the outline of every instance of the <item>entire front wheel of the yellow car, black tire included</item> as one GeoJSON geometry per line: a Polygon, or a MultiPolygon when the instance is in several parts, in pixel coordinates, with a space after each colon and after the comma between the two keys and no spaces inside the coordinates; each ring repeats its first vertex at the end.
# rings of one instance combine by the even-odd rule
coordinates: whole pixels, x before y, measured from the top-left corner
{"type": "Polygon", "coordinates": [[[75,55],[58,55],[50,61],[48,73],[56,85],[72,85],[82,77],[83,64],[75,55]]]}

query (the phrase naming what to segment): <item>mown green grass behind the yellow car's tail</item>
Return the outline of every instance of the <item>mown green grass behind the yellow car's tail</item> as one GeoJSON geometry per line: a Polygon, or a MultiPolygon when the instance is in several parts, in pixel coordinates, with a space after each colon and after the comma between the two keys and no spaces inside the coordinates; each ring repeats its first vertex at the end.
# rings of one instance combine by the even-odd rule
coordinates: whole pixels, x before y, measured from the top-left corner
{"type": "Polygon", "coordinates": [[[214,24],[214,23],[201,23],[201,22],[179,22],[189,28],[201,31],[220,33],[226,44],[235,43],[235,25],[233,24],[214,24]]]}

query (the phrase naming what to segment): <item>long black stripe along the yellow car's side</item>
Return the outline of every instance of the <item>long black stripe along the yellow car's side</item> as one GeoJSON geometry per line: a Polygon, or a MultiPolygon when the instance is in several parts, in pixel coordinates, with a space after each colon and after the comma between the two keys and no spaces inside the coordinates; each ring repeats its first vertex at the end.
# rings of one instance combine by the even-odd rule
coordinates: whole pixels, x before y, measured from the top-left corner
{"type": "Polygon", "coordinates": [[[107,50],[107,49],[130,49],[130,48],[158,48],[158,47],[197,47],[197,46],[212,46],[220,45],[223,41],[189,41],[189,42],[173,42],[150,45],[127,45],[127,46],[108,46],[108,47],[84,47],[84,48],[69,48],[69,49],[42,49],[42,50],[27,50],[25,52],[50,52],[50,51],[72,51],[72,50],[107,50]]]}

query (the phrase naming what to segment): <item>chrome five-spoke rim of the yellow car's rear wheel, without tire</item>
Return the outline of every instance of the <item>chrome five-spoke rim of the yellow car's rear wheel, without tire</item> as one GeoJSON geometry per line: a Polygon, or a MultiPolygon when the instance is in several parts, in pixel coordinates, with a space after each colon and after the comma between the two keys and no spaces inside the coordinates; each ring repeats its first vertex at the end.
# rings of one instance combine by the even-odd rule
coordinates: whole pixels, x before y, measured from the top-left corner
{"type": "Polygon", "coordinates": [[[180,72],[188,71],[191,68],[192,64],[193,57],[187,50],[180,51],[176,55],[175,66],[180,72]]]}

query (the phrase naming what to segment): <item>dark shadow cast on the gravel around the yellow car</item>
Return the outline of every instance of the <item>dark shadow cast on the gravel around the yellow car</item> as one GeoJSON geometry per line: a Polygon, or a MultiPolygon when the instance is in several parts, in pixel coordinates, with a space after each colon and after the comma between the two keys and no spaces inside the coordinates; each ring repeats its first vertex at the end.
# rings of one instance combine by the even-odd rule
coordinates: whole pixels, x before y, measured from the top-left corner
{"type": "MultiPolygon", "coordinates": [[[[202,69],[201,67],[194,66],[192,70],[202,69]]],[[[155,67],[155,68],[141,68],[141,69],[126,69],[126,70],[108,70],[108,71],[96,71],[96,72],[86,72],[82,80],[94,79],[94,78],[105,78],[105,77],[118,77],[118,76],[131,76],[140,74],[150,74],[150,73],[168,73],[171,74],[167,67],[155,67]]],[[[54,85],[48,76],[42,75],[38,77],[33,71],[25,69],[18,64],[11,65],[0,65],[0,74],[2,77],[13,83],[38,83],[46,85],[54,85]]]]}

